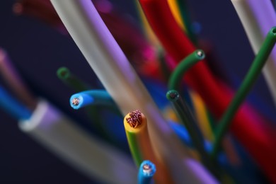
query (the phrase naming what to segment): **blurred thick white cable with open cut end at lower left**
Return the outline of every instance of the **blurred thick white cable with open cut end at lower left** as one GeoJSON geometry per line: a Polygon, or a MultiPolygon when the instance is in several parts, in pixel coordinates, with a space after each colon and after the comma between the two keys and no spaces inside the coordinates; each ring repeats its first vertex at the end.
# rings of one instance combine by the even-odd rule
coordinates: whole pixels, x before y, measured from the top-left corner
{"type": "Polygon", "coordinates": [[[40,101],[30,120],[19,122],[19,127],[92,179],[117,184],[137,182],[138,171],[130,156],[91,137],[45,101],[40,101]]]}

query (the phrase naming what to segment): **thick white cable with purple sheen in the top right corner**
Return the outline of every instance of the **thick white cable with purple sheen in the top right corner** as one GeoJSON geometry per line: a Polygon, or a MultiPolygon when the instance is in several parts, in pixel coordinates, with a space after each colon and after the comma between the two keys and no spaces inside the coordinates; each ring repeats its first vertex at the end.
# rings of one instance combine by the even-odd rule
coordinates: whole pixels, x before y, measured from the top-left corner
{"type": "MultiPolygon", "coordinates": [[[[269,30],[276,25],[275,10],[270,0],[231,0],[255,54],[269,30]]],[[[263,67],[263,74],[276,105],[276,49],[263,67]]]]}

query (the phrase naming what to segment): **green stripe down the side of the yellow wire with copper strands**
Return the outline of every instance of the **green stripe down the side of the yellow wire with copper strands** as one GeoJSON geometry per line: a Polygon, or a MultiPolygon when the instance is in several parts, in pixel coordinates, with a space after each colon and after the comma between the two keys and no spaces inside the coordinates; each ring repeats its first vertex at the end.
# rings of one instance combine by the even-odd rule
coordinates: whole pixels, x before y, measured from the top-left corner
{"type": "Polygon", "coordinates": [[[127,142],[130,146],[130,152],[132,154],[132,158],[134,159],[134,163],[139,168],[140,164],[143,161],[142,152],[139,148],[139,142],[137,140],[137,136],[133,132],[126,131],[127,134],[127,142]]]}

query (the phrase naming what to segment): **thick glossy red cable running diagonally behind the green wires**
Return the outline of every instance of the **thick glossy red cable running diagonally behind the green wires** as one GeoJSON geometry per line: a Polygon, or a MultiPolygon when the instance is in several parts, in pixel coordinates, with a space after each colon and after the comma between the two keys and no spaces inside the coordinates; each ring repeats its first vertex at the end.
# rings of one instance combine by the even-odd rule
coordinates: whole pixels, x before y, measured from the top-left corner
{"type": "MultiPolygon", "coordinates": [[[[173,18],[166,0],[139,0],[152,30],[165,48],[166,52],[177,62],[195,50],[192,42],[173,18]]],[[[232,98],[225,87],[212,75],[206,62],[197,63],[187,74],[185,83],[193,88],[203,98],[209,110],[217,117],[221,117],[232,98]]],[[[231,131],[240,140],[241,144],[253,156],[265,174],[276,183],[276,136],[273,131],[262,125],[256,118],[251,117],[248,110],[238,110],[231,131]],[[268,131],[269,130],[269,131],[268,131]]]]}

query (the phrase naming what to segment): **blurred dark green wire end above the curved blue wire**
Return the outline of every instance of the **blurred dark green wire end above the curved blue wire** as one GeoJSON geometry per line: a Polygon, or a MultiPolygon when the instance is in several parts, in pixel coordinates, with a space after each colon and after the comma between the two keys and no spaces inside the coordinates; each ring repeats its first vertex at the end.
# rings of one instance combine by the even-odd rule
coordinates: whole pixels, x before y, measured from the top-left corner
{"type": "Polygon", "coordinates": [[[71,74],[70,70],[67,67],[60,67],[57,69],[57,76],[65,84],[73,88],[76,92],[86,91],[89,86],[81,81],[79,78],[71,74]]]}

